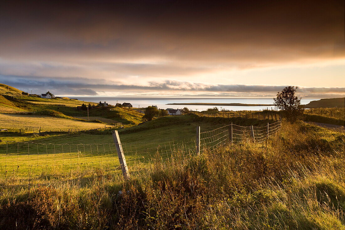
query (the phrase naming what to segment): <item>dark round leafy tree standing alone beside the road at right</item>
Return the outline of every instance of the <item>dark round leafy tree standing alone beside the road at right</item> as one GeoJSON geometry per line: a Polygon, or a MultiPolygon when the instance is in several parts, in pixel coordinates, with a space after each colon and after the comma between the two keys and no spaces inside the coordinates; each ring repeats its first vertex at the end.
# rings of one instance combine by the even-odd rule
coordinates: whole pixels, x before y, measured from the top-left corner
{"type": "Polygon", "coordinates": [[[304,108],[301,106],[301,99],[296,96],[297,86],[287,86],[282,92],[277,93],[274,104],[282,111],[290,123],[296,122],[303,114],[304,108]]]}

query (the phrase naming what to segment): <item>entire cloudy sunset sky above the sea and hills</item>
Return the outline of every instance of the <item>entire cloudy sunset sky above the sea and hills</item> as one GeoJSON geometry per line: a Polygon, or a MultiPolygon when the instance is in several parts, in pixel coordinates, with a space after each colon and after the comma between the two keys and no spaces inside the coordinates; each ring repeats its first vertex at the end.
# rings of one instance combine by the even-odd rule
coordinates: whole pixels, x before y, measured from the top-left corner
{"type": "Polygon", "coordinates": [[[58,96],[345,96],[343,0],[7,1],[0,83],[58,96]]]}

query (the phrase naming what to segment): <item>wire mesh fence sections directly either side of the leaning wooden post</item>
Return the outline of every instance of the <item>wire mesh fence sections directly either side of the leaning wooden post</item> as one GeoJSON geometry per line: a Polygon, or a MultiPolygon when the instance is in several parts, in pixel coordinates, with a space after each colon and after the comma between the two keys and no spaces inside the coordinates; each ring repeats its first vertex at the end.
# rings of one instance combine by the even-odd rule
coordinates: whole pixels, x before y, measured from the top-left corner
{"type": "MultiPolygon", "coordinates": [[[[195,152],[195,138],[174,138],[163,144],[139,142],[122,144],[127,161],[147,163],[155,156],[195,152]]],[[[118,171],[119,160],[114,143],[53,144],[6,141],[0,145],[0,177],[44,179],[72,176],[76,173],[118,171]]]]}

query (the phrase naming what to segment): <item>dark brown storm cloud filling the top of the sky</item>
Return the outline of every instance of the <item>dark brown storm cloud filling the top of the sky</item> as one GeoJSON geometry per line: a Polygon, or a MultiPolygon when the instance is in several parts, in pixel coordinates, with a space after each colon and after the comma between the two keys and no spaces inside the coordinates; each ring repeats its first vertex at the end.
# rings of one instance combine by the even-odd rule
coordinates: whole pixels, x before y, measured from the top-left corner
{"type": "Polygon", "coordinates": [[[343,1],[8,1],[8,59],[166,57],[207,62],[343,55],[343,1]]]}

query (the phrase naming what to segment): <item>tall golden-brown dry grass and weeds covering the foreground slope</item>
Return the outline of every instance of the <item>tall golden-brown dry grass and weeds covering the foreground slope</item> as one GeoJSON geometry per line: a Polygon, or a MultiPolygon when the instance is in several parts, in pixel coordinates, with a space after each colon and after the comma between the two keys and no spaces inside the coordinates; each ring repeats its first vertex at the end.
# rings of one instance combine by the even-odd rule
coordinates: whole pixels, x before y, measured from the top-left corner
{"type": "Polygon", "coordinates": [[[344,134],[283,123],[264,144],[179,152],[54,185],[1,190],[8,229],[344,229],[344,134]],[[123,191],[119,194],[119,191],[123,191]]]}

